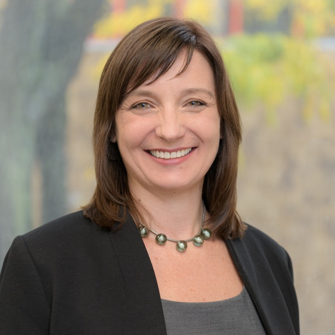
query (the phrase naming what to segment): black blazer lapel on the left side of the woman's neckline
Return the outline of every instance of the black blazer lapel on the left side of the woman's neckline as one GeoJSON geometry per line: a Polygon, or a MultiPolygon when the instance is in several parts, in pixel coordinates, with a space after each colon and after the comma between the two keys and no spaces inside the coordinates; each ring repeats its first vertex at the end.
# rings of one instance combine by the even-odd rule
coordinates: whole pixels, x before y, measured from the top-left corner
{"type": "Polygon", "coordinates": [[[123,334],[166,335],[155,272],[142,237],[128,212],[125,224],[109,235],[125,281],[123,334]]]}

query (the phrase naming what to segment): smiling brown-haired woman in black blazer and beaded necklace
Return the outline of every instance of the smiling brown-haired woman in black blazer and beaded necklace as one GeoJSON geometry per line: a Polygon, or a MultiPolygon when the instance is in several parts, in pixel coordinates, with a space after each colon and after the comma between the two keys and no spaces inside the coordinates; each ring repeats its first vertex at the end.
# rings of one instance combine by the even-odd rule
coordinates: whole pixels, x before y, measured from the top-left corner
{"type": "Polygon", "coordinates": [[[299,334],[288,254],[236,213],[240,119],[199,24],[121,40],[93,140],[90,203],[6,256],[1,334],[299,334]]]}

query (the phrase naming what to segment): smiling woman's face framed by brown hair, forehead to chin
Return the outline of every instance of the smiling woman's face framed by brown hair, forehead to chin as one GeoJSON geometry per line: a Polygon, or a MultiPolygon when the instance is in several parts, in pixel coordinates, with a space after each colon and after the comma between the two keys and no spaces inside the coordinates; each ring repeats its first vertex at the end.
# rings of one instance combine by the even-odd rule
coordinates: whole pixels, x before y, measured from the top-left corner
{"type": "Polygon", "coordinates": [[[201,187],[218,151],[220,116],[212,69],[185,53],[150,85],[132,91],[116,113],[116,136],[130,189],[187,191],[201,187]]]}

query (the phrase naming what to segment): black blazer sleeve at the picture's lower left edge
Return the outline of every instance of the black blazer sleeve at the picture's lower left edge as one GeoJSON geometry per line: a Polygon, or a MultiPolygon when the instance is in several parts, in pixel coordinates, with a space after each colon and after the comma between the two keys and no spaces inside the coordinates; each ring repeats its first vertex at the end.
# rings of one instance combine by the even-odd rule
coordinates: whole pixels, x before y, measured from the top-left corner
{"type": "Polygon", "coordinates": [[[0,273],[0,334],[48,335],[50,311],[33,258],[18,236],[0,273]]]}

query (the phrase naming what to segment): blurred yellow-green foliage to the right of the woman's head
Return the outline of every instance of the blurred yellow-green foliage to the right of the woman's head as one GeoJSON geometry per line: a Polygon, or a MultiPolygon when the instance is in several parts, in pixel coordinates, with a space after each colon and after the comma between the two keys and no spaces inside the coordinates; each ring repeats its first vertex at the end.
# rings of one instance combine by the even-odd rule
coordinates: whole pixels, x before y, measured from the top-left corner
{"type": "Polygon", "coordinates": [[[261,103],[274,123],[277,107],[286,98],[302,101],[303,119],[314,112],[331,116],[335,63],[318,52],[312,38],[335,34],[335,0],[243,0],[260,20],[275,20],[289,11],[289,35],[231,36],[223,44],[237,99],[247,107],[261,103]]]}

